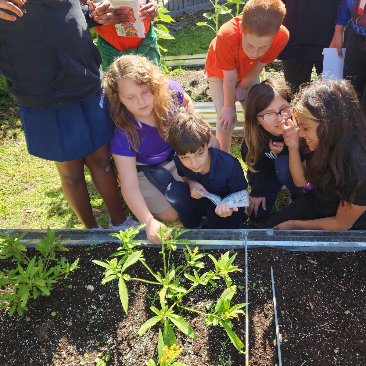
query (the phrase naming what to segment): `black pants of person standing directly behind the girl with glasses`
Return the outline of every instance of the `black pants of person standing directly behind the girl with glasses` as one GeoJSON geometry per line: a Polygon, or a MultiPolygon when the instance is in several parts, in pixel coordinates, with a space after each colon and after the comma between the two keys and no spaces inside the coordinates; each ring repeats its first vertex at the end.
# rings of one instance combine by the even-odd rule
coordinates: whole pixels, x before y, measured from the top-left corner
{"type": "Polygon", "coordinates": [[[310,81],[314,64],[318,75],[323,71],[323,61],[283,60],[282,64],[285,80],[291,84],[293,93],[298,91],[301,84],[310,81]]]}

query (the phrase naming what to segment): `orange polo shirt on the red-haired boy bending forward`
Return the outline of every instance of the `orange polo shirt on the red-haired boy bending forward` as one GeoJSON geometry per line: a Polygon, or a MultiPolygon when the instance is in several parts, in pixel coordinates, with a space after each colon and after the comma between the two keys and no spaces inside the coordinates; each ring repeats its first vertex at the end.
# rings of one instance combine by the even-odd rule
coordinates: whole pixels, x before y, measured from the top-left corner
{"type": "Polygon", "coordinates": [[[216,76],[223,79],[223,70],[230,71],[236,68],[238,71],[236,80],[241,80],[254,69],[257,61],[264,64],[274,61],[290,38],[288,30],[281,25],[268,51],[258,59],[250,59],[242,47],[242,33],[239,26],[241,18],[241,16],[236,16],[223,24],[217,36],[212,40],[205,63],[208,78],[216,76]]]}

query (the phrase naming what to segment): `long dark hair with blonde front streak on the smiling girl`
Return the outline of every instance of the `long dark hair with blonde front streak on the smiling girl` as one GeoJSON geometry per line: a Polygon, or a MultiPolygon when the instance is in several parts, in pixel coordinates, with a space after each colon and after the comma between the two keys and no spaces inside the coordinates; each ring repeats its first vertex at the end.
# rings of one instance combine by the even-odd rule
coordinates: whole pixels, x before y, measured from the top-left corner
{"type": "Polygon", "coordinates": [[[315,81],[303,86],[291,102],[292,113],[319,122],[317,149],[306,156],[305,177],[325,192],[332,176],[344,205],[352,203],[362,184],[360,165],[365,164],[366,118],[350,82],[315,81]],[[351,177],[357,178],[350,187],[351,177]],[[346,187],[352,189],[346,197],[346,187]]]}

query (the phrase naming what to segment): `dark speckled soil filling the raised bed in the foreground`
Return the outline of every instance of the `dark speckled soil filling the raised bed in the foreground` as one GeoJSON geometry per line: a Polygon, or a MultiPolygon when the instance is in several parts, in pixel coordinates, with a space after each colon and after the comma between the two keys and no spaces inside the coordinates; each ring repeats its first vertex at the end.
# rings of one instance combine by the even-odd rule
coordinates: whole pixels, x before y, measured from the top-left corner
{"type": "MultiPolygon", "coordinates": [[[[66,257],[69,261],[80,257],[81,269],[56,284],[50,296],[42,296],[37,302],[30,300],[29,311],[22,317],[15,314],[10,318],[8,310],[0,312],[1,366],[71,366],[81,361],[95,365],[99,352],[111,356],[107,366],[143,366],[157,356],[158,326],[142,337],[137,335],[143,322],[154,315],[149,308],[152,303],[157,305],[157,287],[128,282],[129,310],[125,315],[117,284],[101,285],[103,270],[91,262],[106,258],[116,248],[116,244],[108,243],[89,250],[72,247],[66,257]],[[73,287],[68,289],[68,285],[73,287]],[[87,290],[87,285],[94,291],[87,290]],[[51,316],[53,311],[56,316],[51,316]]],[[[153,269],[161,269],[158,251],[144,250],[153,269]]],[[[219,255],[218,251],[210,253],[219,255]]],[[[176,265],[183,262],[181,251],[174,257],[176,265]]],[[[238,251],[235,264],[244,269],[244,250],[238,251]]],[[[1,262],[1,268],[6,265],[9,262],[1,262]]],[[[208,259],[207,268],[210,266],[208,259]]],[[[275,273],[283,365],[365,365],[366,251],[299,253],[270,248],[249,250],[250,365],[278,365],[270,266],[275,273]]],[[[150,279],[139,263],[129,269],[130,275],[150,279]]],[[[232,304],[245,302],[244,272],[234,273],[232,280],[237,285],[232,304]]],[[[223,289],[224,283],[218,289],[198,287],[188,296],[187,305],[201,305],[206,311],[205,305],[216,301],[223,289]]],[[[220,360],[226,333],[218,326],[209,328],[201,315],[195,315],[188,314],[187,320],[197,341],[175,329],[178,344],[184,347],[177,361],[223,366],[230,360],[233,366],[244,365],[244,355],[229,341],[220,360]]],[[[244,343],[245,317],[241,315],[233,322],[244,343]]]]}

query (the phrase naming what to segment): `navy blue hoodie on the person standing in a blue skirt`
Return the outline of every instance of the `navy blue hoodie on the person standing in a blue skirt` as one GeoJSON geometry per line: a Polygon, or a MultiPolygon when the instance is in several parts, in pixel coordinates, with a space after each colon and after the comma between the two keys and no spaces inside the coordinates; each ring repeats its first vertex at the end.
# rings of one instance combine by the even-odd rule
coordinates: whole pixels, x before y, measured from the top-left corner
{"type": "Polygon", "coordinates": [[[56,109],[101,89],[89,12],[78,0],[29,0],[22,17],[0,19],[0,72],[18,104],[56,109]]]}

